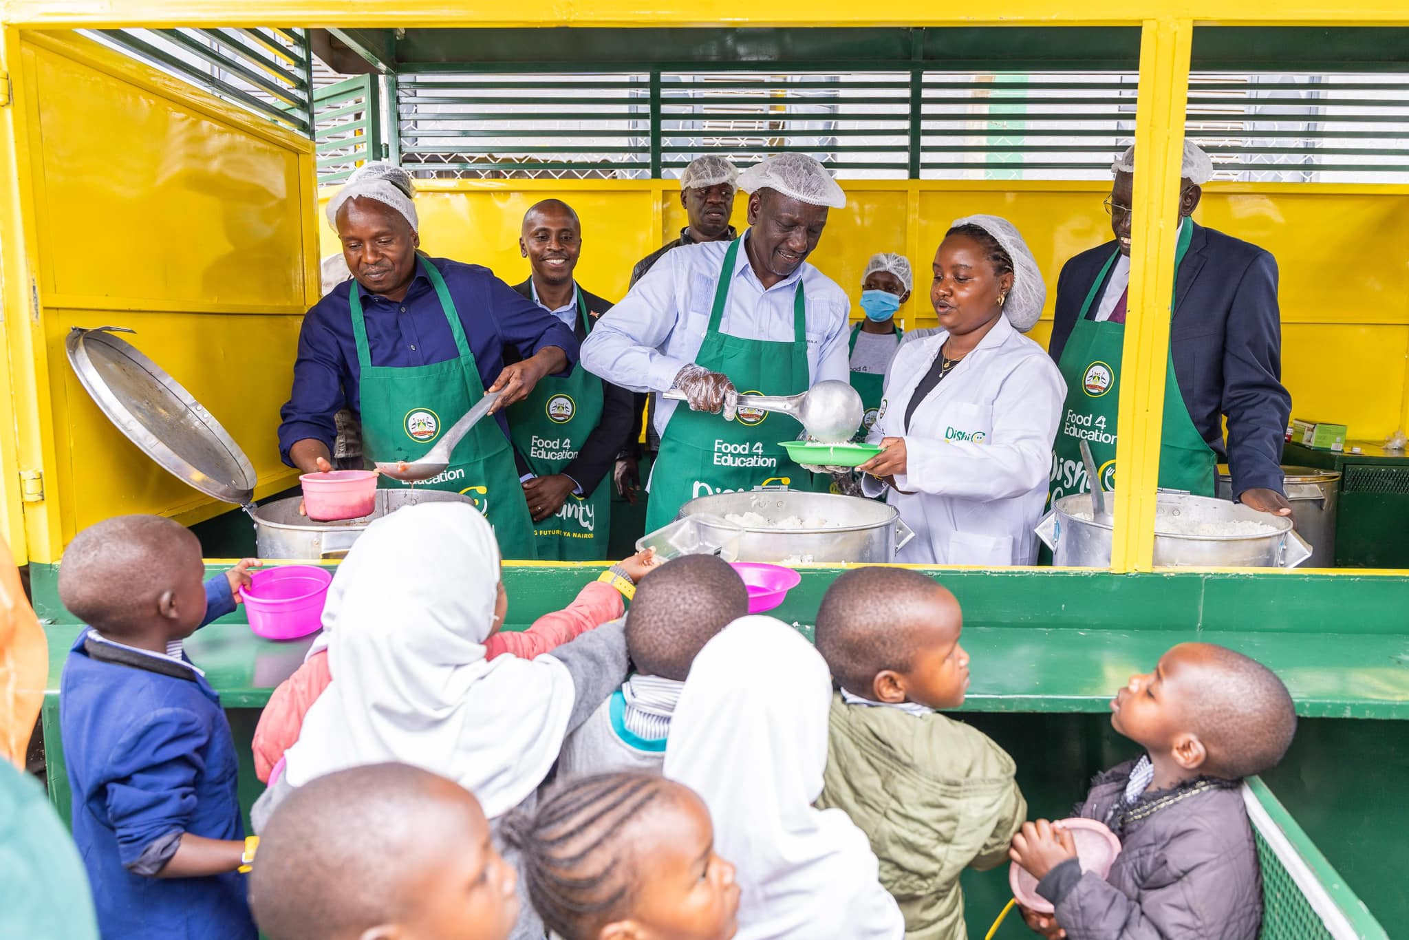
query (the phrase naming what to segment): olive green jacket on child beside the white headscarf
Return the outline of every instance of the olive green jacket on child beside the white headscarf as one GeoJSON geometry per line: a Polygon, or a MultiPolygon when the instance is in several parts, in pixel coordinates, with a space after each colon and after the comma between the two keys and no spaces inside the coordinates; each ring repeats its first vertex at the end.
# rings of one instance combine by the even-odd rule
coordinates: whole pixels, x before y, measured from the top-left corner
{"type": "Polygon", "coordinates": [[[1013,758],[938,713],[831,698],[831,743],[817,806],[847,810],[881,860],[881,884],[907,940],[965,940],[965,867],[993,868],[1027,817],[1013,758]]]}

